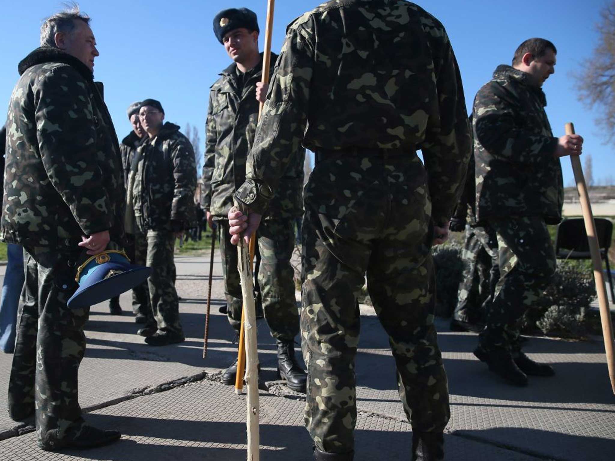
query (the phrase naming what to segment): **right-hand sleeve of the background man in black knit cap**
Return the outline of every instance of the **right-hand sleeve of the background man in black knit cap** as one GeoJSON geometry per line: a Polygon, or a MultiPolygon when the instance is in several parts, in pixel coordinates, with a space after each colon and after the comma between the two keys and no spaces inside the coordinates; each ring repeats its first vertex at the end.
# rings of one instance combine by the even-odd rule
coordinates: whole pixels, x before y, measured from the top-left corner
{"type": "Polygon", "coordinates": [[[184,224],[196,219],[194,208],[194,191],[196,189],[196,159],[194,150],[188,139],[178,140],[171,144],[173,161],[173,203],[171,219],[184,224]]]}

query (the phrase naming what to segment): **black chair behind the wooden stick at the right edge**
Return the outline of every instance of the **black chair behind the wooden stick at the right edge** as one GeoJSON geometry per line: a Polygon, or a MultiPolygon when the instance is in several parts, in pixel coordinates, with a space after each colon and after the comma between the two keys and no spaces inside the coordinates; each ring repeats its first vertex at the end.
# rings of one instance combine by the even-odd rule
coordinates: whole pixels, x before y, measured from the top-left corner
{"type": "MultiPolygon", "coordinates": [[[[613,293],[613,277],[609,266],[609,247],[613,238],[613,222],[610,219],[594,218],[600,258],[606,263],[606,277],[611,287],[611,302],[615,302],[613,293]]],[[[587,232],[582,218],[564,219],[557,226],[555,235],[555,256],[558,259],[592,259],[587,242],[587,232]]]]}

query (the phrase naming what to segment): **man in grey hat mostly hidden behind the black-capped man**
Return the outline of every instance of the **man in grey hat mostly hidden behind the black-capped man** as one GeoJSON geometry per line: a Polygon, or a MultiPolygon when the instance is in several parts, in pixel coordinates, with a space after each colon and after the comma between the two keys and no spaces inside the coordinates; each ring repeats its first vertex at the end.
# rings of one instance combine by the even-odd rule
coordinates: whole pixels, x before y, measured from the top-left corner
{"type": "MultiPolygon", "coordinates": [[[[145,130],[141,127],[141,121],[139,120],[140,108],[141,101],[136,101],[128,106],[126,112],[130,120],[130,125],[132,125],[132,131],[119,144],[119,149],[122,152],[122,167],[124,168],[124,184],[126,186],[126,218],[124,222],[124,230],[126,232],[125,251],[130,261],[135,261],[135,234],[139,232],[135,224],[132,187],[128,187],[130,180],[130,165],[132,165],[138,146],[140,146],[147,137],[147,133],[145,133],[145,130]]],[[[134,181],[134,176],[132,180],[134,181]]],[[[140,238],[145,238],[145,235],[140,235],[140,238]]],[[[145,264],[145,260],[142,261],[142,263],[145,264]]],[[[111,302],[113,302],[113,299],[111,299],[111,302]]],[[[149,323],[153,323],[153,314],[151,306],[149,305],[147,282],[143,282],[141,285],[135,286],[135,288],[132,289],[132,312],[135,313],[136,323],[148,323],[149,320],[151,320],[149,323]]]]}

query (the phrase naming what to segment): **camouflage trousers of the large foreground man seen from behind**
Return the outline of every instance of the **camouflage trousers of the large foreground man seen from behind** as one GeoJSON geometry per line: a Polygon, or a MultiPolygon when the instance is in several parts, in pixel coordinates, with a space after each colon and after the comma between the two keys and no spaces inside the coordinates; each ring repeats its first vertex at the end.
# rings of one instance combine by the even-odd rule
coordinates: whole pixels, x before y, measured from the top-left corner
{"type": "Polygon", "coordinates": [[[320,451],[354,448],[355,355],[365,283],[397,367],[414,430],[442,431],[448,385],[434,327],[427,175],[408,154],[319,162],[304,189],[301,336],[305,423],[320,451]],[[335,182],[331,181],[335,178],[335,182]]]}

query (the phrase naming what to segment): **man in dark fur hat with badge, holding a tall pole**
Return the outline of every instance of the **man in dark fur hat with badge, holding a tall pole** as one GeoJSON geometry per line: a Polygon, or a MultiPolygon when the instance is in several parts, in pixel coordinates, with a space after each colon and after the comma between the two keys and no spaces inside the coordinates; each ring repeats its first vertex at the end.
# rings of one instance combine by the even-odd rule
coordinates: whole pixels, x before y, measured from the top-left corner
{"type": "MultiPolygon", "coordinates": [[[[261,86],[262,53],[258,52],[258,22],[248,9],[223,10],[213,20],[214,33],[234,63],[221,73],[209,93],[207,139],[203,168],[202,204],[207,219],[220,226],[220,254],[229,323],[236,332],[241,326],[242,293],[237,272],[237,248],[230,243],[228,211],[232,194],[245,180],[245,160],[254,141],[261,86]]],[[[272,62],[277,58],[271,54],[272,62]]],[[[273,71],[271,66],[271,73],[273,71]]],[[[295,247],[293,221],[303,213],[301,189],[305,149],[290,144],[292,162],[280,179],[280,193],[272,200],[263,226],[258,229],[261,288],[265,320],[277,342],[278,372],[288,387],[305,392],[307,376],[295,360],[295,336],[299,313],[295,301],[295,271],[290,258],[295,247]]],[[[222,376],[224,384],[235,384],[237,364],[222,376]]]]}

